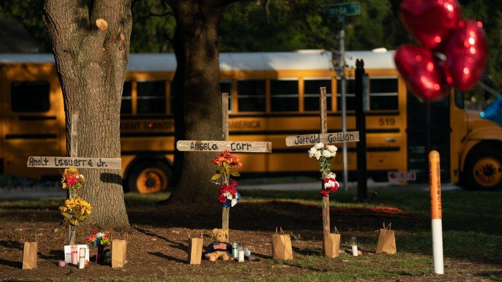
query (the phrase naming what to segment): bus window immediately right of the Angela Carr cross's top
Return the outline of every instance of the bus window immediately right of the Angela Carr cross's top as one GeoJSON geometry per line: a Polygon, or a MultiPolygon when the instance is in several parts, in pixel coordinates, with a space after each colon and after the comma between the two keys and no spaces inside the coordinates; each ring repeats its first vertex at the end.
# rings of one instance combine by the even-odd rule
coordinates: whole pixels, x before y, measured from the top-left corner
{"type": "Polygon", "coordinates": [[[265,111],[265,80],[237,82],[239,111],[265,111]]]}

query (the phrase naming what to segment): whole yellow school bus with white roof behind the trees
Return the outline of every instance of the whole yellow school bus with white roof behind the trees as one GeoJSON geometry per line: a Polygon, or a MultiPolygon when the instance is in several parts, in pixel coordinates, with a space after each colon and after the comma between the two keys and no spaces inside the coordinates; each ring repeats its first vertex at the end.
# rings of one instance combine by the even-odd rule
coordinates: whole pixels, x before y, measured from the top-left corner
{"type": "MultiPolygon", "coordinates": [[[[366,113],[368,175],[415,172],[427,181],[427,151],[441,154],[443,182],[468,188],[502,185],[502,129],[463,109],[462,93],[420,102],[408,93],[392,51],[347,52],[347,128],[356,130],[354,66],[363,59],[370,77],[366,113]],[[427,114],[428,113],[428,114],[427,114]],[[429,117],[429,122],[427,122],[429,117]]],[[[121,104],[124,189],[165,190],[174,153],[173,54],[131,54],[121,104]]],[[[272,154],[241,154],[243,175],[315,174],[308,147],[286,147],[289,135],[319,130],[319,87],[327,87],[328,129],[340,131],[340,87],[329,52],[221,53],[220,88],[229,93],[230,140],[272,141],[272,154]]],[[[0,54],[0,170],[5,175],[46,178],[56,170],[27,168],[28,156],[64,156],[61,87],[51,54],[0,54]]],[[[348,144],[349,178],[356,170],[355,143],[348,144]]],[[[341,154],[341,153],[339,153],[341,154]]],[[[342,170],[341,156],[334,170],[342,170]]]]}

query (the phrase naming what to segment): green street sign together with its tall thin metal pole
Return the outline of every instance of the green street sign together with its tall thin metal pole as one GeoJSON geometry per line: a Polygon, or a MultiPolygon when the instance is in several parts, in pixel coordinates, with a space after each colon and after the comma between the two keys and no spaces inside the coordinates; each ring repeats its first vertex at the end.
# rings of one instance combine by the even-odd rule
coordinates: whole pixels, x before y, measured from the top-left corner
{"type": "MultiPolygon", "coordinates": [[[[347,80],[345,78],[345,16],[361,14],[361,5],[359,2],[331,4],[322,7],[323,11],[329,16],[338,17],[338,34],[333,38],[333,48],[331,49],[331,61],[333,68],[340,77],[340,89],[342,96],[342,131],[347,131],[347,80]],[[338,50],[336,50],[336,41],[338,41],[338,50]]],[[[342,147],[343,180],[344,190],[348,190],[348,159],[347,144],[342,147]]]]}

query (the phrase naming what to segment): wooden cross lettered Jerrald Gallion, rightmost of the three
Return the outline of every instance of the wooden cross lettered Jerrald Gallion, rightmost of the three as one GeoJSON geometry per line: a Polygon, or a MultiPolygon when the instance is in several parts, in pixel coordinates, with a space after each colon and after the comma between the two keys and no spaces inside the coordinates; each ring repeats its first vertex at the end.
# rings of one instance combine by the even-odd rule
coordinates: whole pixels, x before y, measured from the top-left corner
{"type": "MultiPolygon", "coordinates": [[[[320,134],[294,135],[286,137],[286,146],[315,145],[316,143],[346,143],[359,141],[359,131],[328,133],[328,117],[326,110],[326,87],[320,87],[319,109],[320,134]]],[[[322,174],[322,179],[326,175],[322,174]]],[[[322,226],[324,233],[330,233],[329,195],[322,197],[322,226]]],[[[324,236],[323,236],[324,237],[324,236]]]]}

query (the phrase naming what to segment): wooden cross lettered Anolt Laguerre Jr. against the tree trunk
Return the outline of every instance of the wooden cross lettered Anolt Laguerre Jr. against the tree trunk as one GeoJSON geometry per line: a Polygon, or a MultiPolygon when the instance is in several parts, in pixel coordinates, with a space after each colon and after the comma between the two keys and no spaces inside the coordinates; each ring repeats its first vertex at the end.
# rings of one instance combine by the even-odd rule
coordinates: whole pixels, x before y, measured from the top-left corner
{"type": "MultiPolygon", "coordinates": [[[[122,162],[120,158],[82,158],[78,156],[78,136],[77,124],[79,112],[76,111],[71,115],[70,124],[70,157],[45,157],[45,156],[30,156],[26,163],[28,167],[44,167],[44,168],[100,168],[121,170],[122,162]]],[[[73,198],[68,190],[66,197],[73,198]]],[[[75,236],[72,235],[71,228],[68,228],[68,245],[75,245],[75,236]]]]}

